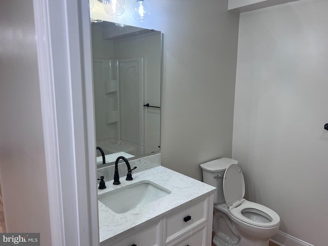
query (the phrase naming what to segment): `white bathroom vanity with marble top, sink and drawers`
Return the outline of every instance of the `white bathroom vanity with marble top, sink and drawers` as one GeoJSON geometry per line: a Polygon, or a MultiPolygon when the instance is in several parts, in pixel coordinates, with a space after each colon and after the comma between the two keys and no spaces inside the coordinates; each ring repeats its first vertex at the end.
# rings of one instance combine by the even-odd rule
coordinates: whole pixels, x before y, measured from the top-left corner
{"type": "Polygon", "coordinates": [[[214,187],[161,166],[120,182],[98,192],[101,246],[211,245],[214,187]]]}

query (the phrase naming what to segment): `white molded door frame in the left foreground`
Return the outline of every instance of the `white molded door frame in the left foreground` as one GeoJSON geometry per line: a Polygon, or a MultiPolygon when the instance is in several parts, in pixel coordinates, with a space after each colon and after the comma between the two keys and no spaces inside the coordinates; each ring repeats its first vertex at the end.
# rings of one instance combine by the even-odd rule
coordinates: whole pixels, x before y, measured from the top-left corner
{"type": "Polygon", "coordinates": [[[52,245],[99,245],[87,0],[33,0],[52,245]]]}

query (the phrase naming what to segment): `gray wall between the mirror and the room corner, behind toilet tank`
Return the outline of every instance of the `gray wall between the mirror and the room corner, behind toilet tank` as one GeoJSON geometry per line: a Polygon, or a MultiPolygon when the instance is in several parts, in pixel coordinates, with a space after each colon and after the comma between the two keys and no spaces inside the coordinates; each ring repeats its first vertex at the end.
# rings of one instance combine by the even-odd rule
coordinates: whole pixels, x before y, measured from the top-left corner
{"type": "Polygon", "coordinates": [[[232,153],[239,14],[228,1],[163,2],[162,165],[201,180],[200,163],[232,153]]]}

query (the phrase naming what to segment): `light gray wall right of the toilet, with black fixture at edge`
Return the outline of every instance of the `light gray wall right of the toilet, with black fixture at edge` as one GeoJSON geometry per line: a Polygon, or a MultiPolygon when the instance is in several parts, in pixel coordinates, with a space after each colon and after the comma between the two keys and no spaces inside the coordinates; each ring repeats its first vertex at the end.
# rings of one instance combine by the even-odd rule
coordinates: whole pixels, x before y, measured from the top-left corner
{"type": "Polygon", "coordinates": [[[328,228],[327,9],[302,0],[240,15],[233,131],[249,199],[317,246],[328,228]]]}

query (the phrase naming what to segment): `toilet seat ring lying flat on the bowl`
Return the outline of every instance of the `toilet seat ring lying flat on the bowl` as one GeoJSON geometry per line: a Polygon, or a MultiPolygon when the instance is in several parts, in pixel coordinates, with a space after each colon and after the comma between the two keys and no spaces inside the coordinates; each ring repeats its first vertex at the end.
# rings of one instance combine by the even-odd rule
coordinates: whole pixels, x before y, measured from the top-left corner
{"type": "Polygon", "coordinates": [[[228,208],[235,218],[257,227],[276,227],[280,223],[279,215],[261,204],[241,199],[228,208]]]}

